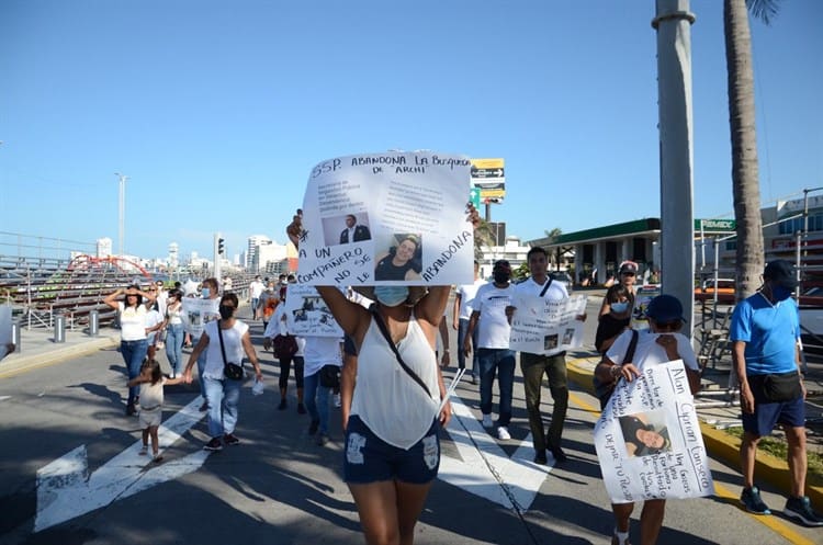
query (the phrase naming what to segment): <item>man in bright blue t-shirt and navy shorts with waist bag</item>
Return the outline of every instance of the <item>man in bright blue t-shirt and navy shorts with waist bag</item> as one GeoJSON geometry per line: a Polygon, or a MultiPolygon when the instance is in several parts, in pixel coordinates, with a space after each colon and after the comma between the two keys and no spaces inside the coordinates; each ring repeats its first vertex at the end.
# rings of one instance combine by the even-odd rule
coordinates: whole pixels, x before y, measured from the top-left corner
{"type": "Polygon", "coordinates": [[[754,484],[754,468],[757,443],[779,423],[789,443],[791,478],[783,514],[809,526],[823,526],[805,496],[805,386],[799,368],[800,314],[791,298],[797,286],[792,264],[771,261],[763,271],[763,287],[737,304],[732,315],[732,362],[743,409],[741,502],[752,513],[771,514],[754,484]]]}

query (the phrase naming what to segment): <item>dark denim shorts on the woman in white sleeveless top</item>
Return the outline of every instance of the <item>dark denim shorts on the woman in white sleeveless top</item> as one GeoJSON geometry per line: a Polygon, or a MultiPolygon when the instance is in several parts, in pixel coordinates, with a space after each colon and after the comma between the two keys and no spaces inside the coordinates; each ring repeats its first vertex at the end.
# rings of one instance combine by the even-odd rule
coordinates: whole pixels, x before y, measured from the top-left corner
{"type": "Polygon", "coordinates": [[[440,422],[408,451],[390,445],[375,435],[357,415],[349,417],[343,451],[343,480],[356,485],[399,480],[425,485],[440,467],[440,422]]]}

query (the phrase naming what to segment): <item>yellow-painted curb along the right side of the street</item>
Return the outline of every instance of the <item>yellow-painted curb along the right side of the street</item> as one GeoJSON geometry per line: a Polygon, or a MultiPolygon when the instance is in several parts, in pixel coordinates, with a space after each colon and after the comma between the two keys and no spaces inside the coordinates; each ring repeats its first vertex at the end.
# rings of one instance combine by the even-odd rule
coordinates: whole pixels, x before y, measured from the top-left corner
{"type": "MultiPolygon", "coordinates": [[[[568,379],[593,396],[595,395],[595,387],[591,383],[593,372],[585,366],[580,366],[580,363],[596,363],[599,359],[599,356],[593,354],[566,361],[568,379]]],[[[700,432],[703,435],[706,450],[712,456],[735,469],[740,468],[740,439],[721,430],[715,430],[703,422],[700,422],[700,432]]],[[[755,475],[759,481],[767,482],[782,492],[787,498],[791,495],[789,466],[785,459],[779,459],[768,453],[757,451],[755,475]]],[[[820,506],[823,506],[823,486],[811,485],[808,480],[807,477],[805,495],[811,500],[812,506],[818,506],[818,509],[820,509],[820,506]]]]}

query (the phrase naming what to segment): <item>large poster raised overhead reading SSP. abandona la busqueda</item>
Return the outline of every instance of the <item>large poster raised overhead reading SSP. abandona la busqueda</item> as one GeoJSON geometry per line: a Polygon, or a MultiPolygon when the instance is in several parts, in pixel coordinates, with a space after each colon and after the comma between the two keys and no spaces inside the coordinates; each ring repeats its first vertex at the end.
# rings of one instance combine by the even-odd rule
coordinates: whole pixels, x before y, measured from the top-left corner
{"type": "Polygon", "coordinates": [[[473,281],[471,161],[431,151],[330,159],[308,177],[297,282],[444,285],[473,281]]]}

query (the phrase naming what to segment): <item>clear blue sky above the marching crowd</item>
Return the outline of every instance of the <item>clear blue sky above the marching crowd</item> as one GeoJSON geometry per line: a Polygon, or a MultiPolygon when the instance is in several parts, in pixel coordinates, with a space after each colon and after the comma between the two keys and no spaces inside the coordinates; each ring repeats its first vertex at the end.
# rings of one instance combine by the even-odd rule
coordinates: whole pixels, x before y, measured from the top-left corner
{"type": "MultiPolygon", "coordinates": [[[[695,216],[732,211],[722,2],[692,0],[695,216]]],[[[0,231],[285,241],[311,168],[504,158],[523,240],[659,216],[653,0],[0,2],[0,231]]],[[[823,185],[823,2],[752,23],[764,204],[823,185]]],[[[0,247],[0,253],[13,252],[0,247]]]]}

